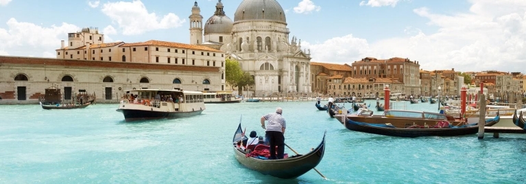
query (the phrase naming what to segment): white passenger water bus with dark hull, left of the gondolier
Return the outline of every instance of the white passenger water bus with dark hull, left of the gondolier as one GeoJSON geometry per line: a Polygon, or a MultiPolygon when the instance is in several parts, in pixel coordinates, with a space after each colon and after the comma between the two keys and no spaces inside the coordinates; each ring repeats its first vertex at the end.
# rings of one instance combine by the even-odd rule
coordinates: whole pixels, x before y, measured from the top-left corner
{"type": "Polygon", "coordinates": [[[126,121],[133,121],[190,117],[200,115],[204,109],[201,91],[134,89],[126,91],[117,111],[126,121]]]}

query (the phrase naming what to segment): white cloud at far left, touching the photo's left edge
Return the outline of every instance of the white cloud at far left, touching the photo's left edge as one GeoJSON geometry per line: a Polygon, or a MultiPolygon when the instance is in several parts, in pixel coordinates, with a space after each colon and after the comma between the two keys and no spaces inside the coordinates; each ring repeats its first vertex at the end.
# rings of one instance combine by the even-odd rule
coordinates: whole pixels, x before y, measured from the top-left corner
{"type": "MultiPolygon", "coordinates": [[[[0,28],[0,52],[14,56],[51,56],[46,52],[54,52],[60,48],[60,41],[67,39],[69,32],[80,30],[76,25],[62,23],[42,27],[34,23],[19,22],[11,18],[7,29],[0,28]]],[[[53,57],[55,55],[53,54],[53,57]]]]}

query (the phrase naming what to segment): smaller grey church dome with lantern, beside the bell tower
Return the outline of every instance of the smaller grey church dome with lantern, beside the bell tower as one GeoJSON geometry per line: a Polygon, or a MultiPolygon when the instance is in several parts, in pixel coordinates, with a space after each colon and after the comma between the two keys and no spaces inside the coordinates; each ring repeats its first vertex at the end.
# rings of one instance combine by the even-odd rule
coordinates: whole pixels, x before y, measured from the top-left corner
{"type": "Polygon", "coordinates": [[[232,32],[232,27],[234,22],[232,19],[228,18],[223,11],[223,3],[221,0],[215,5],[215,13],[211,16],[204,25],[204,34],[213,34],[213,33],[224,33],[230,34],[232,32]]]}

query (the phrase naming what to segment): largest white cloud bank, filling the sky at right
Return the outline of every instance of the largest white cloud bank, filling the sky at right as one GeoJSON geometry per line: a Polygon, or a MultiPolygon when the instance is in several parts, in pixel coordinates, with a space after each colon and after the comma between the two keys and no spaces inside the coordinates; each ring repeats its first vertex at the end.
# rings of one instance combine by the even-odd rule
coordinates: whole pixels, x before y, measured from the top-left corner
{"type": "Polygon", "coordinates": [[[418,27],[406,27],[405,36],[374,43],[348,35],[305,47],[311,48],[313,61],[350,64],[368,56],[401,57],[418,60],[421,69],[526,73],[526,1],[472,3],[469,12],[453,15],[414,10],[438,27],[437,32],[424,34],[418,27]]]}

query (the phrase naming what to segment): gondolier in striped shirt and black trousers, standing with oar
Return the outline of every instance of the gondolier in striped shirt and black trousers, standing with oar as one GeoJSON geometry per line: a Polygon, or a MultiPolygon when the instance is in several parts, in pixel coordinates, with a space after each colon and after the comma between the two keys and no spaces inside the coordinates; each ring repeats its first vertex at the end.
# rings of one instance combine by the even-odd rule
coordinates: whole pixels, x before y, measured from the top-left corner
{"type": "Polygon", "coordinates": [[[283,109],[280,107],[276,108],[276,113],[268,113],[261,117],[261,127],[266,130],[266,137],[269,139],[270,144],[270,159],[283,159],[283,153],[285,152],[285,118],[281,115],[283,109]],[[265,120],[267,120],[267,126],[265,126],[265,120]],[[276,157],[276,146],[278,146],[278,154],[276,157]]]}

